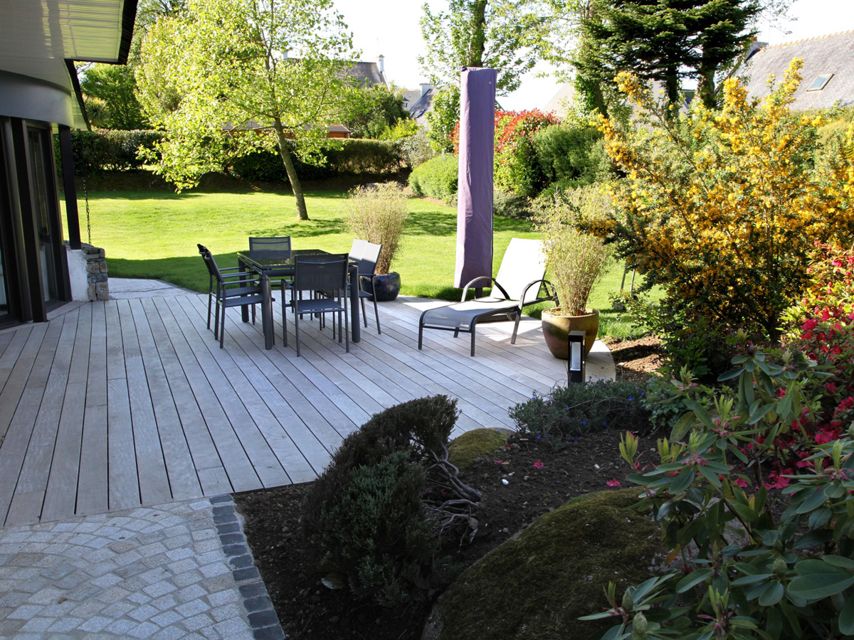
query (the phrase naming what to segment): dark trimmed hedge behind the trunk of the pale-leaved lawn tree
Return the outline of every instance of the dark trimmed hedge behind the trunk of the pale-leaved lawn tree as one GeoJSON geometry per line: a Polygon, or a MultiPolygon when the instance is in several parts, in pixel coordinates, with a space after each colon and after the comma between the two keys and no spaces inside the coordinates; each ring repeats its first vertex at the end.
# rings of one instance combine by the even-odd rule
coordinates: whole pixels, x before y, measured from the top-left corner
{"type": "MultiPolygon", "coordinates": [[[[294,158],[301,180],[319,180],[336,175],[389,177],[401,171],[404,159],[401,143],[391,140],[343,140],[342,148],[326,149],[323,166],[309,165],[294,158]]],[[[237,177],[262,182],[287,182],[288,174],[277,151],[259,151],[231,163],[237,177]]]]}

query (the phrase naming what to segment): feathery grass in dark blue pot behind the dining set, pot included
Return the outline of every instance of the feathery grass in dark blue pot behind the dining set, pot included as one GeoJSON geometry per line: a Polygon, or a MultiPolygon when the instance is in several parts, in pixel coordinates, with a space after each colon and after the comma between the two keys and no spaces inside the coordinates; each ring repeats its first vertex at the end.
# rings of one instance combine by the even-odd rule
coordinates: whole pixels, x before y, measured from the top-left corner
{"type": "Polygon", "coordinates": [[[346,207],[353,235],[383,245],[373,281],[377,302],[395,300],[401,292],[401,274],[391,271],[391,262],[407,219],[407,195],[398,183],[369,184],[350,191],[346,207]]]}

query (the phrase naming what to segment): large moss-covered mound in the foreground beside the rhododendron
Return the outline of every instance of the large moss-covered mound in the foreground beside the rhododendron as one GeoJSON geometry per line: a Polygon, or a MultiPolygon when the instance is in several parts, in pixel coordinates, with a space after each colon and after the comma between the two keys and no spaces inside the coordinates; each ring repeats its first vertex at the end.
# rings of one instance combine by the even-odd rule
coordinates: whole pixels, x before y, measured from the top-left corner
{"type": "MultiPolygon", "coordinates": [[[[424,638],[582,640],[603,627],[579,616],[652,576],[661,530],[626,507],[636,489],[592,493],[542,515],[472,565],[439,600],[424,638]]],[[[610,626],[605,621],[605,628],[610,626]]]]}

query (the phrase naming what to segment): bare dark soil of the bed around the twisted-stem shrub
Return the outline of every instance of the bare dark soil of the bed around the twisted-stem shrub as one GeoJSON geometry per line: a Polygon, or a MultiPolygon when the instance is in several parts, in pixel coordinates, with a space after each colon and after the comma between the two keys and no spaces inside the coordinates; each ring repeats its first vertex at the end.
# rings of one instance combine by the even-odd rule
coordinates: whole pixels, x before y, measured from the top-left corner
{"type": "MultiPolygon", "coordinates": [[[[549,439],[513,436],[508,448],[479,459],[471,471],[460,474],[483,492],[477,537],[456,553],[460,568],[571,497],[606,490],[609,480],[623,480],[627,467],[619,459],[619,440],[618,432],[605,431],[558,448],[549,439]]],[[[290,640],[421,637],[432,602],[389,610],[355,602],[348,591],[332,591],[321,584],[320,558],[300,527],[306,490],[307,485],[285,486],[235,496],[246,518],[255,563],[290,640]]]]}

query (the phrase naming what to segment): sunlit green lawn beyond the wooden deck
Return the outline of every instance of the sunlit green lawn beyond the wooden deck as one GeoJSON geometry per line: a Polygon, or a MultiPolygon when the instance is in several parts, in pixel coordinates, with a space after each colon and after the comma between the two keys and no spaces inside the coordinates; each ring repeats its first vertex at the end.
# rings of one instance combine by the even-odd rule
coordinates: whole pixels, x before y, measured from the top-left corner
{"type": "MultiPolygon", "coordinates": [[[[235,253],[249,236],[291,236],[295,248],[346,252],[353,241],[342,215],[342,191],[306,195],[311,220],[296,221],[290,193],[182,193],[96,191],[89,194],[92,244],[106,249],[110,276],[149,277],[195,291],[208,290],[208,274],[196,243],[206,245],[220,266],[237,264],[235,253]]],[[[452,207],[412,198],[407,232],[393,268],[401,274],[402,293],[444,300],[459,298],[453,288],[457,212],[452,207]]],[[[85,203],[79,202],[85,239],[85,203]]],[[[535,238],[523,220],[495,218],[494,271],[512,237],[535,238]]],[[[611,308],[608,295],[619,291],[623,269],[617,266],[594,291],[590,303],[611,308]]],[[[603,317],[601,335],[633,333],[616,314],[603,317]]]]}

